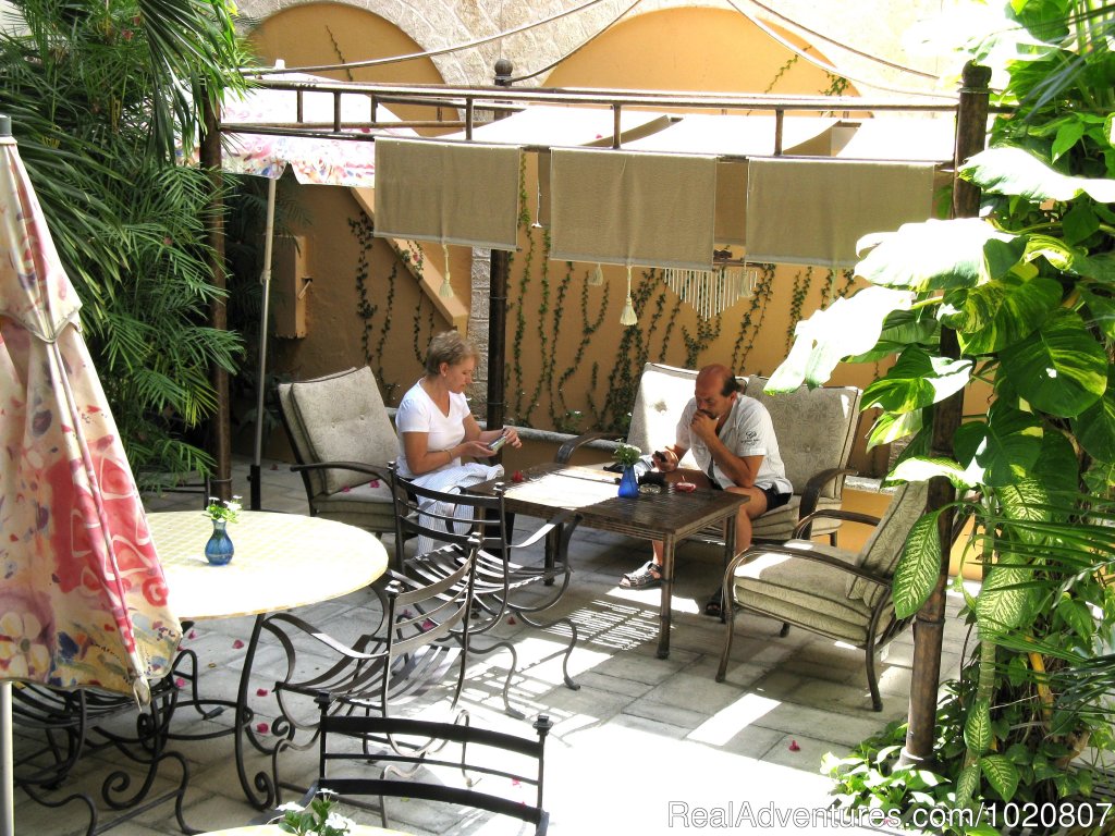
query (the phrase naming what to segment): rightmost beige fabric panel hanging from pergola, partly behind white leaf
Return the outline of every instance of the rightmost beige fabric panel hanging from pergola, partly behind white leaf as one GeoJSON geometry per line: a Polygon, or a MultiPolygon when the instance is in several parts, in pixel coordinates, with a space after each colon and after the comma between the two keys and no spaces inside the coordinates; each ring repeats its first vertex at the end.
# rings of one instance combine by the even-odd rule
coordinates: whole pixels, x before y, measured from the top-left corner
{"type": "Polygon", "coordinates": [[[928,220],[932,164],[752,159],[747,260],[852,266],[865,234],[928,220]]]}

